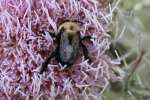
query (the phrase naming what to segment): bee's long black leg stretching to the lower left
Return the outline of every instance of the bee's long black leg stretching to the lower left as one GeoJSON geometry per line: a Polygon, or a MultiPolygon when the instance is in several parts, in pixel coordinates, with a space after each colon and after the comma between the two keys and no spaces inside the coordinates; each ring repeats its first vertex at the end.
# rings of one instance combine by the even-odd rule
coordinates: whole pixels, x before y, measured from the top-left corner
{"type": "Polygon", "coordinates": [[[52,54],[49,55],[49,57],[45,60],[45,62],[42,64],[42,67],[40,69],[40,74],[42,74],[47,69],[47,65],[49,61],[56,55],[56,52],[52,52],[52,54]]]}

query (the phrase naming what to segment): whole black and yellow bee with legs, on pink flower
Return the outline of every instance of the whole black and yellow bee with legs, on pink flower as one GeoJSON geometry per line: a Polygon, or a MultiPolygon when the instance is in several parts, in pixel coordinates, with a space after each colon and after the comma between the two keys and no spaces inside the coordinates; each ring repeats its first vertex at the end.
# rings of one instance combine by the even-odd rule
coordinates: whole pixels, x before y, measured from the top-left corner
{"type": "Polygon", "coordinates": [[[82,43],[85,39],[91,39],[91,36],[81,38],[80,26],[77,23],[71,21],[64,22],[60,25],[56,35],[52,33],[50,33],[50,35],[56,38],[58,45],[56,50],[54,50],[42,64],[40,74],[46,71],[47,65],[53,57],[62,65],[67,65],[67,67],[71,66],[77,58],[80,47],[82,47],[85,59],[89,59],[89,62],[91,62],[88,56],[88,49],[82,43]]]}

